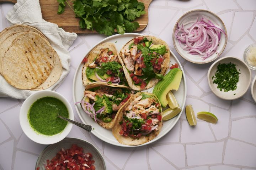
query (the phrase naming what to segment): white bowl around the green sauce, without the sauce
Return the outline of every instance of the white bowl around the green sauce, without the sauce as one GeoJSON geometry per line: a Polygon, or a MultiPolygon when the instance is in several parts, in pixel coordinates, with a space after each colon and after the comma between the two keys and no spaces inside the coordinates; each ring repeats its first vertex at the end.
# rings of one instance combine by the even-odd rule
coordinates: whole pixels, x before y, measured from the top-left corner
{"type": "MultiPolygon", "coordinates": [[[[55,94],[55,95],[59,96],[60,98],[62,98],[62,99],[59,99],[60,101],[62,101],[63,103],[64,103],[64,101],[65,101],[65,103],[68,103],[68,104],[65,104],[65,103],[64,103],[64,104],[65,104],[65,106],[67,107],[68,111],[70,111],[70,112],[69,112],[69,119],[74,120],[74,112],[73,112],[73,109],[72,109],[71,104],[69,103],[69,101],[66,100],[66,98],[65,98],[63,95],[59,94],[58,92],[52,91],[52,90],[42,90],[42,91],[35,92],[35,93],[31,94],[30,96],[28,96],[28,97],[26,98],[26,100],[22,103],[22,106],[21,106],[21,108],[20,108],[20,115],[19,115],[19,118],[20,118],[20,126],[21,126],[21,129],[22,129],[22,131],[24,132],[24,134],[25,134],[28,138],[30,138],[32,141],[34,141],[34,142],[36,142],[36,143],[39,143],[39,144],[51,145],[51,144],[54,144],[54,143],[57,143],[57,142],[63,140],[66,136],[68,136],[69,132],[71,131],[71,129],[72,129],[72,127],[73,127],[73,124],[71,124],[71,123],[68,122],[68,124],[67,124],[66,127],[65,127],[65,129],[66,129],[65,133],[64,133],[64,130],[65,130],[65,129],[64,129],[64,130],[63,130],[62,132],[60,132],[59,134],[56,134],[56,135],[61,135],[61,134],[62,134],[62,137],[60,137],[58,140],[54,140],[54,142],[41,142],[41,141],[36,140],[35,138],[32,138],[32,137],[28,134],[28,132],[25,130],[25,125],[24,125],[23,123],[21,123],[21,119],[22,119],[22,117],[23,117],[23,115],[22,115],[23,108],[25,107],[25,105],[27,104],[27,102],[30,100],[30,98],[32,98],[32,97],[35,96],[35,95],[42,94],[42,93],[46,93],[46,92],[55,94]],[[64,134],[64,135],[63,135],[63,134],[64,134]]],[[[49,95],[48,95],[48,96],[49,96],[49,95]]],[[[48,96],[44,96],[44,97],[48,97],[48,96]]],[[[50,96],[50,97],[51,97],[51,96],[50,96]]],[[[39,97],[39,98],[42,98],[42,97],[39,97]]],[[[39,98],[37,98],[37,100],[38,100],[39,98]]],[[[34,102],[35,102],[35,101],[34,101],[34,102]]],[[[31,106],[31,105],[30,105],[30,106],[31,106]]],[[[31,127],[31,128],[32,128],[32,127],[31,127]]],[[[38,133],[38,132],[35,131],[35,133],[38,133]]],[[[41,134],[40,134],[40,135],[41,135],[41,134]]],[[[46,137],[47,137],[47,135],[43,135],[43,134],[42,134],[42,136],[46,136],[46,137]]],[[[53,135],[53,137],[54,137],[54,136],[55,136],[55,135],[53,135]]],[[[51,136],[51,137],[52,137],[52,136],[51,136]]]]}

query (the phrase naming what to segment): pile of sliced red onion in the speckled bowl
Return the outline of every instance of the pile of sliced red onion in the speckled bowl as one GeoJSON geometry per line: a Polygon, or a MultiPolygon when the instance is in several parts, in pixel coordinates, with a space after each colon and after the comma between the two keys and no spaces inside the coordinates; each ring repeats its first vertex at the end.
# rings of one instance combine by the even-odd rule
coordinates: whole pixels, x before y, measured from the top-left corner
{"type": "Polygon", "coordinates": [[[175,38],[183,50],[192,55],[201,55],[203,60],[216,52],[221,33],[226,33],[218,25],[214,25],[204,16],[197,21],[190,21],[181,26],[177,24],[175,38]],[[191,27],[185,27],[191,24],[191,27]]]}

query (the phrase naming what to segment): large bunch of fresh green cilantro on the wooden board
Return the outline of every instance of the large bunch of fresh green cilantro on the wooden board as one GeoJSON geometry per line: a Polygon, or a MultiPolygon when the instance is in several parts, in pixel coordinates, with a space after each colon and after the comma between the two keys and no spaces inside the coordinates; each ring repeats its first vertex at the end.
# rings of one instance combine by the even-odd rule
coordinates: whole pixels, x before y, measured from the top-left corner
{"type": "Polygon", "coordinates": [[[144,3],[138,0],[74,0],[73,8],[68,0],[57,1],[58,14],[64,12],[67,4],[80,18],[80,28],[95,29],[105,35],[112,35],[114,29],[119,34],[133,32],[139,24],[132,21],[146,13],[144,3]]]}

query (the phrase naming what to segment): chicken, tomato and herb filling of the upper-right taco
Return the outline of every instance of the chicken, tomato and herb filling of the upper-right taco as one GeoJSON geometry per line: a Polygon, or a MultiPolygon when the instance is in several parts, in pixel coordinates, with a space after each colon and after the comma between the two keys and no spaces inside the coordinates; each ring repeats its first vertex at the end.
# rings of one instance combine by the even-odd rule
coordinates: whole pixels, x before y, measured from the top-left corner
{"type": "Polygon", "coordinates": [[[120,55],[133,83],[144,89],[152,78],[163,78],[160,72],[165,53],[165,45],[153,44],[147,38],[138,36],[132,44],[121,50],[120,55]]]}

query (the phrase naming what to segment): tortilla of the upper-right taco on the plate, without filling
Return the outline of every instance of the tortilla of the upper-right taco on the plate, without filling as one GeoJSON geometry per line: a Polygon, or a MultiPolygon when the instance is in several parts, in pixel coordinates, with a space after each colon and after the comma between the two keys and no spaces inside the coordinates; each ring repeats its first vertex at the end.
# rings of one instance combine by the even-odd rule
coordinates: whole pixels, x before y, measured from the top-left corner
{"type": "MultiPolygon", "coordinates": [[[[162,64],[161,64],[161,68],[162,68],[162,69],[161,69],[161,72],[160,72],[160,74],[163,74],[163,75],[164,75],[164,74],[166,73],[166,70],[167,70],[168,67],[169,67],[170,56],[171,56],[171,53],[170,53],[170,49],[169,49],[168,44],[167,44],[165,41],[163,41],[163,40],[161,40],[161,39],[159,39],[159,38],[156,38],[155,36],[143,36],[143,38],[147,38],[149,41],[152,41],[152,43],[153,43],[154,45],[165,45],[167,52],[165,53],[165,55],[162,56],[163,59],[164,59],[164,61],[163,61],[162,64]]],[[[133,42],[134,42],[133,39],[130,40],[126,45],[123,46],[122,49],[124,49],[124,48],[126,48],[126,47],[129,47],[129,45],[132,44],[133,42]]],[[[121,50],[121,51],[122,51],[122,50],[121,50]]],[[[151,79],[151,80],[149,81],[149,83],[146,85],[146,87],[145,87],[144,89],[142,89],[142,88],[141,88],[140,86],[138,86],[138,85],[133,84],[133,80],[132,80],[132,78],[130,77],[130,73],[128,72],[128,70],[127,70],[127,68],[126,68],[126,66],[125,66],[125,64],[124,64],[124,62],[123,62],[124,58],[126,58],[126,57],[122,55],[121,51],[120,51],[120,53],[119,53],[119,57],[120,57],[119,60],[120,60],[121,63],[122,63],[123,70],[124,70],[124,74],[125,74],[125,76],[126,76],[128,85],[129,85],[133,90],[137,90],[137,91],[146,90],[146,89],[149,89],[150,87],[153,87],[156,83],[158,83],[159,79],[153,78],[153,79],[151,79]],[[121,60],[121,59],[122,59],[122,60],[121,60]]]]}

